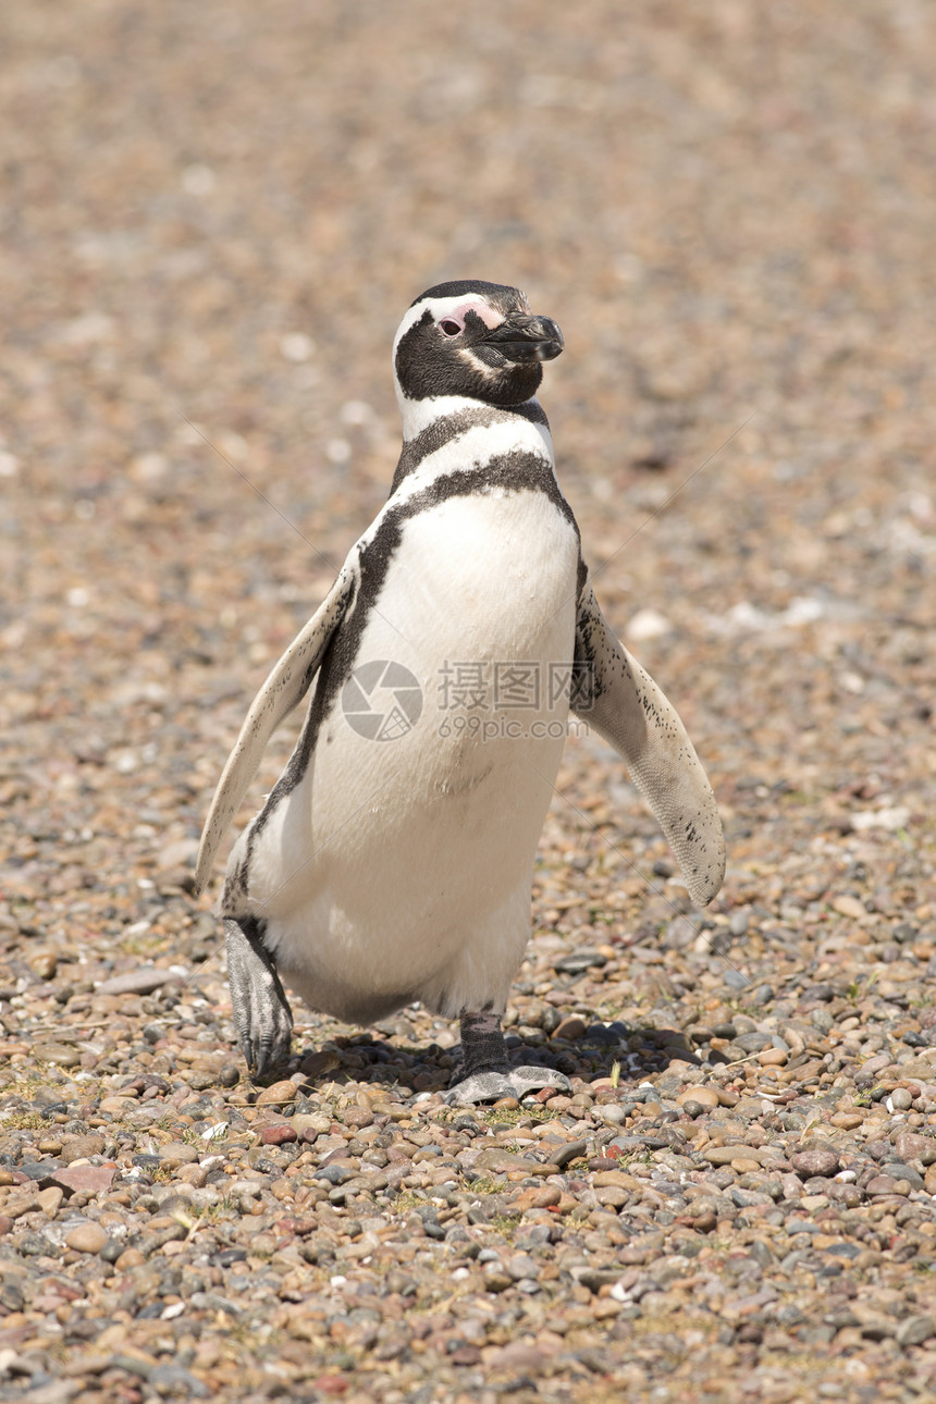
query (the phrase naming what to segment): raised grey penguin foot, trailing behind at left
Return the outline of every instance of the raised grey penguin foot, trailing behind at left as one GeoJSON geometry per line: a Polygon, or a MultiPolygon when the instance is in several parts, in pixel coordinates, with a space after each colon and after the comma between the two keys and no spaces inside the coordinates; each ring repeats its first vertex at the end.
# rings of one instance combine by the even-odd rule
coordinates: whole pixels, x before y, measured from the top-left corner
{"type": "Polygon", "coordinates": [[[289,1057],[292,1009],[262,943],[262,922],[225,918],[227,983],[237,1026],[237,1042],[247,1066],[262,1077],[289,1057]]]}

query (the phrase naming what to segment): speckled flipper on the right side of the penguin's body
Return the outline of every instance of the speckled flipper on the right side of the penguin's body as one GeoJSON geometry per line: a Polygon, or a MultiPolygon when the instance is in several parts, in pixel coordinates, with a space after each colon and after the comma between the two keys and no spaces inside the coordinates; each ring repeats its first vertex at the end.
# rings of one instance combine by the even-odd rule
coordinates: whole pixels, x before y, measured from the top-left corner
{"type": "Polygon", "coordinates": [[[626,761],[679,861],[689,896],[704,907],[724,878],[716,797],[675,708],[617,642],[591,585],[575,621],[571,708],[626,761]]]}

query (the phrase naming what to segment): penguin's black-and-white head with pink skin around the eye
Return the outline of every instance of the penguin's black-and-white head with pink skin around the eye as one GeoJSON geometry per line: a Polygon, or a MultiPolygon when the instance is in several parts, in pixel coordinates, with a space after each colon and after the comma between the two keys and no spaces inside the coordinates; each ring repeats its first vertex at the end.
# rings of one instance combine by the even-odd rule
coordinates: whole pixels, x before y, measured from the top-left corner
{"type": "Polygon", "coordinates": [[[543,361],[563,350],[551,317],[536,317],[516,288],[441,282],[407,310],[393,343],[397,397],[464,396],[507,407],[529,400],[543,361]]]}

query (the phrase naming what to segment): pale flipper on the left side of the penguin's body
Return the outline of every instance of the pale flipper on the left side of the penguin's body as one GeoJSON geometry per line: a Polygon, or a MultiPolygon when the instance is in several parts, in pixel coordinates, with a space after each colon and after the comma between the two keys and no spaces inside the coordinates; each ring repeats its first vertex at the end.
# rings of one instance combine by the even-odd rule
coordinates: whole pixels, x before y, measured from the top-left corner
{"type": "Polygon", "coordinates": [[[218,845],[257,774],[267,741],[312,687],[328,642],[354,595],[356,580],[356,557],[349,557],[316,614],[292,640],[251,702],[205,820],[195,863],[196,892],[210,878],[218,845]]]}

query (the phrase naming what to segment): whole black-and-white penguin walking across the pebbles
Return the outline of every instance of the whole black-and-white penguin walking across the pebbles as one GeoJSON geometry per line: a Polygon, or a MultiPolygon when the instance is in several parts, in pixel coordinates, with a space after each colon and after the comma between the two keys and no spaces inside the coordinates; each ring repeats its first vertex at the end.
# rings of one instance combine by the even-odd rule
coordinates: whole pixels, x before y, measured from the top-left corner
{"type": "Polygon", "coordinates": [[[491,282],[429,288],[400,323],[390,496],[254,699],[196,861],[202,890],[269,736],[309,695],[219,903],[255,1075],[289,1053],[285,981],[351,1024],[413,1001],[457,1018],[449,1101],[568,1088],[511,1063],[501,1016],[570,709],[626,761],[692,900],[721,886],[706,774],[605,622],[556,477],[536,392],[561,350],[556,322],[491,282]]]}

